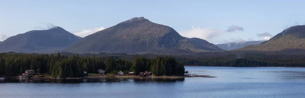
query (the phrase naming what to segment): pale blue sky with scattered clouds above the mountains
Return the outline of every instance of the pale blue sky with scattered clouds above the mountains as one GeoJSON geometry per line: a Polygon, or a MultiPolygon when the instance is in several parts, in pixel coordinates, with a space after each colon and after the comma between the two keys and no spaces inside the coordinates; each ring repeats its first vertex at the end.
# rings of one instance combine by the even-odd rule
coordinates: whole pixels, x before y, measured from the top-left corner
{"type": "Polygon", "coordinates": [[[133,17],[214,44],[267,40],[290,26],[303,25],[303,4],[296,0],[0,0],[0,41],[52,26],[84,37],[133,17]]]}

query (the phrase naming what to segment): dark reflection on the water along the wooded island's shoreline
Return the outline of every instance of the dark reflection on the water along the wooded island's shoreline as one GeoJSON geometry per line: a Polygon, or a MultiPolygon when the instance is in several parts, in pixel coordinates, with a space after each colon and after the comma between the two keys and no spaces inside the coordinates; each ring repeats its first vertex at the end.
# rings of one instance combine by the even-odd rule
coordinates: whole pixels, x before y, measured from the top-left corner
{"type": "Polygon", "coordinates": [[[129,79],[129,78],[101,78],[101,79],[44,79],[44,80],[19,80],[19,79],[5,79],[0,80],[0,83],[117,83],[117,82],[181,82],[185,78],[180,79],[166,79],[166,78],[143,78],[143,79],[129,79]]]}

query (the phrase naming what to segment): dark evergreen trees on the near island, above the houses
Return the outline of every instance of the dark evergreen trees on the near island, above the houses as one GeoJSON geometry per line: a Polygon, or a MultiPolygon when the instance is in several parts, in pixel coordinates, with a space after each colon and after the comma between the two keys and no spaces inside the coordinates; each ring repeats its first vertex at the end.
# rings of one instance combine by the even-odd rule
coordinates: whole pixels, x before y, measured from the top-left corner
{"type": "Polygon", "coordinates": [[[154,75],[184,75],[183,63],[171,57],[157,57],[155,59],[136,57],[133,61],[117,57],[87,57],[58,54],[0,54],[0,74],[17,76],[25,70],[35,70],[39,74],[53,77],[83,77],[83,71],[96,73],[104,69],[108,74],[119,71],[135,72],[151,71],[154,75]]]}

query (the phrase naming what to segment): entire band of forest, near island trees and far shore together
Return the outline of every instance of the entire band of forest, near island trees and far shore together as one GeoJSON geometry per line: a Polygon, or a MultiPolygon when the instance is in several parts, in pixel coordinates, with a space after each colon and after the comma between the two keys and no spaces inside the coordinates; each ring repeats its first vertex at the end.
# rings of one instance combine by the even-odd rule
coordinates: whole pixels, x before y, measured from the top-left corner
{"type": "Polygon", "coordinates": [[[279,53],[204,53],[198,55],[22,54],[1,53],[0,75],[16,76],[32,69],[53,77],[83,77],[83,71],[108,74],[150,71],[154,75],[184,75],[184,65],[225,67],[305,67],[305,56],[279,53]],[[183,63],[182,63],[183,62],[183,63]]]}

